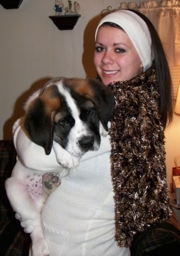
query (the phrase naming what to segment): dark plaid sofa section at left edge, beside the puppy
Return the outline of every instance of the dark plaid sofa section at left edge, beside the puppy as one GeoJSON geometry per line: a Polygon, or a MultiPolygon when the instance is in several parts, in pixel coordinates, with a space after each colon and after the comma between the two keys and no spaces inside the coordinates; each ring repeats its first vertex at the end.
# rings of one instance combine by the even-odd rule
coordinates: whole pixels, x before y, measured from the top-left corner
{"type": "Polygon", "coordinates": [[[0,140],[0,255],[28,256],[31,239],[24,233],[19,220],[5,193],[4,181],[10,177],[16,163],[16,150],[13,141],[0,140]]]}

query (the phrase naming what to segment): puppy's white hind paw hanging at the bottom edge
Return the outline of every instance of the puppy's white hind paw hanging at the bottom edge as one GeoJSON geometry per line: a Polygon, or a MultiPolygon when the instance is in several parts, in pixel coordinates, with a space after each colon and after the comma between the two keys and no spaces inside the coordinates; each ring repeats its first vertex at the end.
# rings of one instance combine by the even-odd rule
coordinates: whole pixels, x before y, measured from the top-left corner
{"type": "Polygon", "coordinates": [[[49,248],[45,239],[38,239],[32,243],[32,256],[49,256],[49,248]]]}

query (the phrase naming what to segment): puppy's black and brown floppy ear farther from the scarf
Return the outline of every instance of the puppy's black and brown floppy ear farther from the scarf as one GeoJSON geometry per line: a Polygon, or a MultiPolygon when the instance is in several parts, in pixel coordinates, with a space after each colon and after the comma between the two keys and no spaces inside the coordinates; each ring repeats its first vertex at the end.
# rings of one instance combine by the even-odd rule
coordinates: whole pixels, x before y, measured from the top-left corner
{"type": "Polygon", "coordinates": [[[26,110],[24,126],[31,140],[43,146],[47,155],[53,144],[53,120],[60,108],[61,99],[57,86],[43,89],[43,93],[35,98],[26,110]]]}

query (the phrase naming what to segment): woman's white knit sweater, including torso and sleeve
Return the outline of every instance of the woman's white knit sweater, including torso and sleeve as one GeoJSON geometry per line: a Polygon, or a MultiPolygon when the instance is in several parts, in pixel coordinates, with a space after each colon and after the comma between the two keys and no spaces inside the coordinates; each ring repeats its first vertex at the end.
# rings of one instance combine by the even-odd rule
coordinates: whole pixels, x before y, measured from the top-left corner
{"type": "MultiPolygon", "coordinates": [[[[14,124],[14,143],[27,167],[58,167],[55,153],[45,155],[25,135],[19,120],[14,124]]],[[[115,242],[113,195],[107,136],[101,137],[98,151],[86,153],[79,167],[62,178],[44,205],[41,220],[50,256],[130,256],[128,248],[115,242]]]]}

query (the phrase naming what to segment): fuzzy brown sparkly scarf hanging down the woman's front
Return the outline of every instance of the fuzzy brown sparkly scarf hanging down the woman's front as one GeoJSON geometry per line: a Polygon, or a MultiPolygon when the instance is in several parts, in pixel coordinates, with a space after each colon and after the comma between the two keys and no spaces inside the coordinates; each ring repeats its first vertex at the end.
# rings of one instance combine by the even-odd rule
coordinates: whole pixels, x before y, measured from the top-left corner
{"type": "Polygon", "coordinates": [[[136,233],[171,214],[157,76],[149,69],[109,87],[115,94],[110,128],[115,237],[128,247],[136,233]]]}

